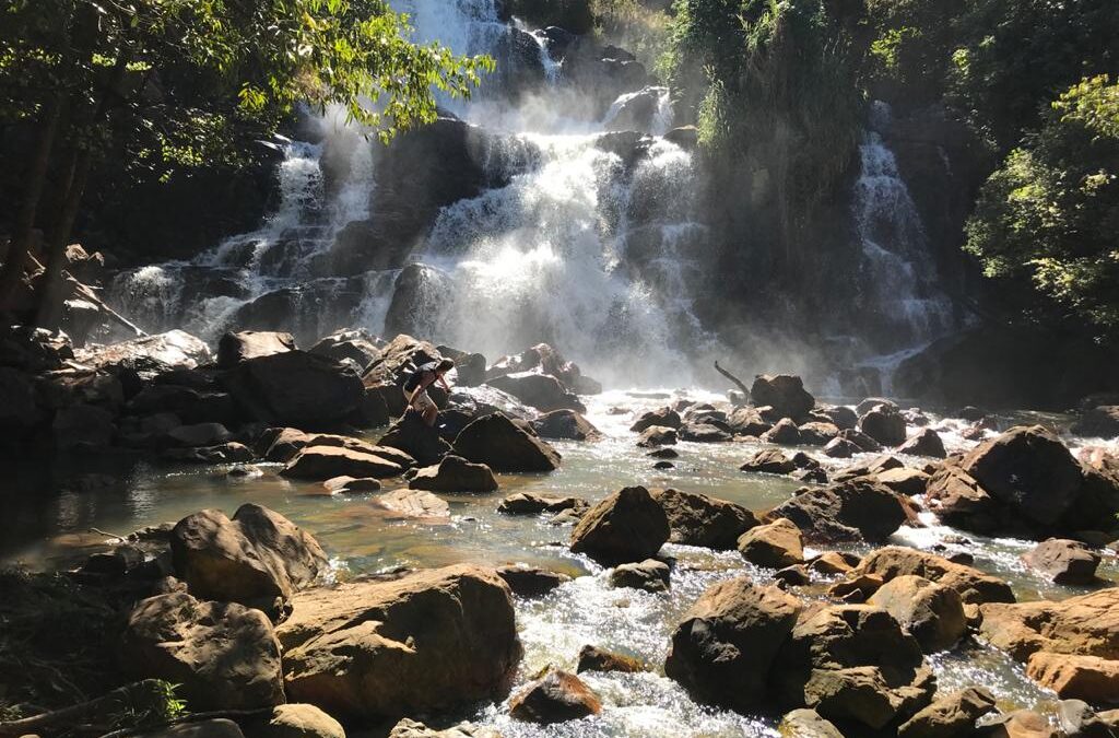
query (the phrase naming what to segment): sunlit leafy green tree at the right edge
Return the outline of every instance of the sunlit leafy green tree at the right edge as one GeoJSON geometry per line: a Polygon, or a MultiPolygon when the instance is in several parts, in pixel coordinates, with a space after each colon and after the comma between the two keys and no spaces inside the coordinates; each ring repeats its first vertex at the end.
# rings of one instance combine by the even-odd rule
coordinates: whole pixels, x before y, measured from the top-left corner
{"type": "Polygon", "coordinates": [[[991,278],[1027,281],[1119,337],[1119,84],[1096,76],[1052,104],[1044,125],[990,176],[966,250],[991,278]]]}

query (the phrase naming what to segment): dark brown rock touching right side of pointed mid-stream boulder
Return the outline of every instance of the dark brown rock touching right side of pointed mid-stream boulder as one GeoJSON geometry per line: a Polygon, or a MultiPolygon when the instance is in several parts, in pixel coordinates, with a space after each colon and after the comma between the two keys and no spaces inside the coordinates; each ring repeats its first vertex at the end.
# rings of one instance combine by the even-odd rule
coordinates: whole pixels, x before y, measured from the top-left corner
{"type": "Polygon", "coordinates": [[[677,489],[651,494],[668,517],[673,543],[730,551],[737,547],[739,536],[758,525],[753,513],[725,499],[677,489]]]}

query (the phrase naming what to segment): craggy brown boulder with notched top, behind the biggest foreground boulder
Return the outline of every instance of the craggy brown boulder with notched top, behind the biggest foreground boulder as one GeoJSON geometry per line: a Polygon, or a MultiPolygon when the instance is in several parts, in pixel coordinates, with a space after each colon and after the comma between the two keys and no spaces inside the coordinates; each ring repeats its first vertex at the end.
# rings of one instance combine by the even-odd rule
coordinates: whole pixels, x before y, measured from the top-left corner
{"type": "Polygon", "coordinates": [[[327,568],[318,542],[286,517],[252,503],[233,520],[204,510],[171,531],[171,557],[192,595],[272,610],[327,568]]]}

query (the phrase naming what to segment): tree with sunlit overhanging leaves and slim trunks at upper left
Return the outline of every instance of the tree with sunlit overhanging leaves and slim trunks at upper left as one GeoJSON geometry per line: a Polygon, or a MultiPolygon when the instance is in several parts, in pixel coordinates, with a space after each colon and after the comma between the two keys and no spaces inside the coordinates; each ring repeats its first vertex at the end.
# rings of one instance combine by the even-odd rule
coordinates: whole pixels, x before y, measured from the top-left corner
{"type": "Polygon", "coordinates": [[[164,172],[236,158],[299,103],[341,106],[387,141],[435,118],[435,90],[469,95],[492,68],[412,43],[382,0],[9,0],[0,24],[0,118],[38,130],[0,307],[46,226],[48,327],[85,184],[113,146],[164,172]]]}

